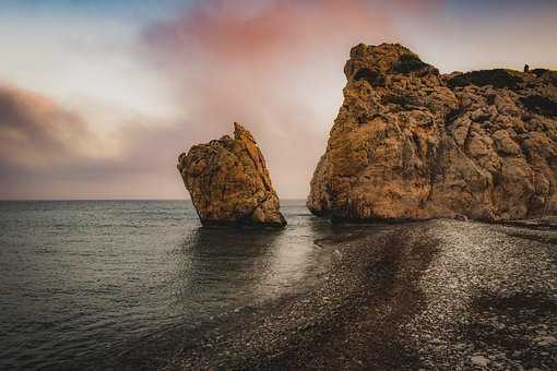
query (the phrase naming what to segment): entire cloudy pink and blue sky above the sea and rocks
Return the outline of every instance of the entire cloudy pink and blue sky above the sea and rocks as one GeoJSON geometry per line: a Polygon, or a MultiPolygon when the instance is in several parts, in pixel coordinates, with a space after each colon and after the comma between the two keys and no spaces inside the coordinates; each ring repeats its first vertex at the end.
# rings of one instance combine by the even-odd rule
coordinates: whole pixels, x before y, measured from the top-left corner
{"type": "Polygon", "coordinates": [[[185,199],[178,155],[234,121],[305,199],[352,46],[557,69],[555,20],[541,0],[0,0],[0,199],[185,199]]]}

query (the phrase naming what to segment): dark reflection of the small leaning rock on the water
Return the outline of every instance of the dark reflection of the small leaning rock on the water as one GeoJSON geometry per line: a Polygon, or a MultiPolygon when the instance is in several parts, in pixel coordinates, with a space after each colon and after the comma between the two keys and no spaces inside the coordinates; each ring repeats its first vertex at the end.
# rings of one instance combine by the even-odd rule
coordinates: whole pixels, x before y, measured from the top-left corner
{"type": "Polygon", "coordinates": [[[269,255],[282,232],[193,230],[176,251],[176,303],[186,306],[187,310],[199,306],[203,312],[210,312],[249,301],[254,286],[268,270],[269,255]]]}

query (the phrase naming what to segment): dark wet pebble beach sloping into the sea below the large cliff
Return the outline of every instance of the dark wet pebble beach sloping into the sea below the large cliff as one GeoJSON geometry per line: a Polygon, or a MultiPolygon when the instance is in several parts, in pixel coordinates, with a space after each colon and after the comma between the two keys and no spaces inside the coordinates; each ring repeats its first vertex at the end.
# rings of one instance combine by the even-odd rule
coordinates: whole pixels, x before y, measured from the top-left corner
{"type": "Polygon", "coordinates": [[[118,369],[557,369],[555,229],[431,220],[315,243],[333,259],[307,292],[118,369]]]}

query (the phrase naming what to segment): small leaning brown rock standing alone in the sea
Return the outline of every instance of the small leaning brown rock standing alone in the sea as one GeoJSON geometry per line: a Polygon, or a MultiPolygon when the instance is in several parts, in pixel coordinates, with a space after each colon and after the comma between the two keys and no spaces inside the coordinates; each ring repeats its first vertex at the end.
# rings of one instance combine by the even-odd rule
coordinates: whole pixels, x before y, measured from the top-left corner
{"type": "Polygon", "coordinates": [[[234,123],[234,139],[195,145],[178,170],[204,226],[284,227],[265,160],[249,131],[234,123]]]}

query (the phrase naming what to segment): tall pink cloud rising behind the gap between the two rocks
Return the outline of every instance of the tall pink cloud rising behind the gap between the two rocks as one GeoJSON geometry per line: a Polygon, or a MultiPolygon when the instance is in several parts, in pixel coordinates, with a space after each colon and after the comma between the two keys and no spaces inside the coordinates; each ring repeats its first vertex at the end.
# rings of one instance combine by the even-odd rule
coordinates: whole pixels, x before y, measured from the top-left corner
{"type": "Polygon", "coordinates": [[[358,43],[396,41],[387,2],[203,1],[145,33],[175,81],[185,147],[244,122],[268,158],[280,196],[304,198],[342,103],[343,65],[358,43]],[[234,8],[236,7],[236,8],[234,8]]]}

